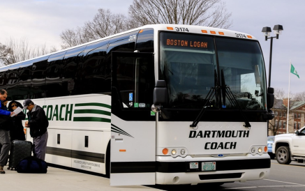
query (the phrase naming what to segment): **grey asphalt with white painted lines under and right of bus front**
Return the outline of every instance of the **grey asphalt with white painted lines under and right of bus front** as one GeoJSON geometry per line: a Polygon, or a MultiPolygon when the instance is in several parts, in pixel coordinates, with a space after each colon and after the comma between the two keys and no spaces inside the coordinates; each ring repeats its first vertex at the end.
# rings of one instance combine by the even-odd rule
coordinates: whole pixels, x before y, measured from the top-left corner
{"type": "Polygon", "coordinates": [[[271,171],[268,179],[260,181],[247,181],[245,183],[227,183],[219,188],[207,188],[205,185],[196,186],[159,186],[152,188],[161,190],[305,190],[305,163],[291,162],[290,165],[280,165],[276,160],[271,160],[271,171]],[[206,189],[204,189],[206,188],[206,189]]]}

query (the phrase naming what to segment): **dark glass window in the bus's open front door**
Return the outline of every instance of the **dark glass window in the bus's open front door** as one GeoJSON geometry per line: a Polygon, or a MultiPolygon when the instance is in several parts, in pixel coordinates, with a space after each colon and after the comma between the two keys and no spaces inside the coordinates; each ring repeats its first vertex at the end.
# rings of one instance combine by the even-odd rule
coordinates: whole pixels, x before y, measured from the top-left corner
{"type": "Polygon", "coordinates": [[[154,66],[148,58],[117,57],[117,90],[122,107],[150,109],[153,102],[154,66]]]}

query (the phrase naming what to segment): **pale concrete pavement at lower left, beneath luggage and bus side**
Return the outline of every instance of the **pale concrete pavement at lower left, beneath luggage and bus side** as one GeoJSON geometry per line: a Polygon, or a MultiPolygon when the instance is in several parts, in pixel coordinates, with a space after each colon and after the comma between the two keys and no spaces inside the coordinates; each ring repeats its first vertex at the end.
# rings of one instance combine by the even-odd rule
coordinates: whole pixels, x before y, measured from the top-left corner
{"type": "Polygon", "coordinates": [[[154,188],[137,186],[112,187],[110,180],[101,176],[82,174],[65,169],[47,168],[47,174],[21,174],[4,167],[6,174],[0,174],[0,190],[6,191],[112,191],[112,190],[156,190],[154,188]]]}

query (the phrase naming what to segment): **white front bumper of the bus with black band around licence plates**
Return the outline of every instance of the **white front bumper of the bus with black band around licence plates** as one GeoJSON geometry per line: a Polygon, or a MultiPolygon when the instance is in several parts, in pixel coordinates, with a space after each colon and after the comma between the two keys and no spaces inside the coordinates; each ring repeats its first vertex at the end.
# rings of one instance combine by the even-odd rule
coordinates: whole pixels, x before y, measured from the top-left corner
{"type": "Polygon", "coordinates": [[[225,158],[157,156],[156,161],[156,184],[161,185],[259,180],[269,176],[271,165],[267,153],[225,158]],[[191,162],[198,163],[198,168],[191,168],[191,162]],[[202,171],[202,165],[207,164],[205,162],[215,162],[215,169],[202,171]]]}

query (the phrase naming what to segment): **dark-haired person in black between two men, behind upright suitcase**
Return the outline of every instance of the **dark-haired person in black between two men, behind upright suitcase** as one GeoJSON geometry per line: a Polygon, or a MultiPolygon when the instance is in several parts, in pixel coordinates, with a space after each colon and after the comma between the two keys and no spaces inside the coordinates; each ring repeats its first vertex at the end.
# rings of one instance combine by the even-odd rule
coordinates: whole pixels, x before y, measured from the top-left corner
{"type": "MultiPolygon", "coordinates": [[[[20,102],[17,101],[11,101],[8,104],[8,111],[13,112],[17,107],[22,108],[20,102]]],[[[13,119],[13,127],[10,128],[10,141],[13,142],[13,140],[21,140],[25,141],[25,135],[24,135],[24,127],[22,125],[22,120],[25,119],[25,114],[23,112],[20,112],[16,116],[12,117],[13,119]]]]}

